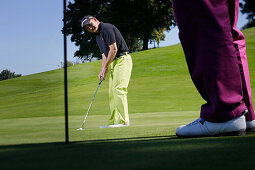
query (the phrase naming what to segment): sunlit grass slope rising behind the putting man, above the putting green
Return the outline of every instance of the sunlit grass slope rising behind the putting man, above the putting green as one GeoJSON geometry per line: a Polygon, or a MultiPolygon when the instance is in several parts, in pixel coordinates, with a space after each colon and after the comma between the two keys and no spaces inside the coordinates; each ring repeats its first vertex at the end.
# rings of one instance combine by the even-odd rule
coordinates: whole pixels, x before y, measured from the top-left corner
{"type": "MultiPolygon", "coordinates": [[[[180,45],[132,54],[130,113],[199,110],[202,100],[188,75],[180,45]]],[[[70,115],[87,111],[96,90],[100,61],[69,67],[70,115]]],[[[63,115],[63,69],[0,82],[0,119],[63,115]]],[[[108,114],[108,80],[93,115],[108,114]]]]}

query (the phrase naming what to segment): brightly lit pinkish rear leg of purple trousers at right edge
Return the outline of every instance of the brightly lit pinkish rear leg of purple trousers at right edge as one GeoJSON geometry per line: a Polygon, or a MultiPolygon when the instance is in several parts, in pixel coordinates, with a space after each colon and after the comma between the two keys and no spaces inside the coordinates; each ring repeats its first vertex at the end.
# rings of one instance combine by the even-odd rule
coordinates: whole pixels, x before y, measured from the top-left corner
{"type": "Polygon", "coordinates": [[[251,85],[248,61],[246,56],[246,43],[243,33],[237,28],[237,20],[239,13],[239,0],[229,1],[229,16],[232,25],[233,40],[239,60],[239,68],[242,76],[243,101],[248,109],[245,115],[247,121],[255,119],[254,108],[251,98],[251,85]]]}

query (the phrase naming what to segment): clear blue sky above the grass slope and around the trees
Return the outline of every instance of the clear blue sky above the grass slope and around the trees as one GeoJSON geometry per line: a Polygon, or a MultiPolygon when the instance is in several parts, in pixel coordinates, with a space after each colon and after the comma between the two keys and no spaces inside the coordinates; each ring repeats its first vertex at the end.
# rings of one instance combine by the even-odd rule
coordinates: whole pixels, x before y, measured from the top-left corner
{"type": "MultiPolygon", "coordinates": [[[[63,62],[63,0],[1,0],[0,71],[29,75],[59,68],[63,62]]],[[[239,13],[237,27],[247,23],[239,13]]],[[[179,43],[178,28],[166,32],[160,47],[179,43]]],[[[149,45],[152,48],[154,45],[149,45]]],[[[69,61],[78,49],[68,37],[69,61]]]]}

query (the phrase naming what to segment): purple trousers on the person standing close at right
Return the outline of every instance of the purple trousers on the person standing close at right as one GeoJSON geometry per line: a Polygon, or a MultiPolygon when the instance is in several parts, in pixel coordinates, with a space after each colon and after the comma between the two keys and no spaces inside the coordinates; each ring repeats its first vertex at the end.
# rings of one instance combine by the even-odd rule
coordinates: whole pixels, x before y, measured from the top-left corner
{"type": "Polygon", "coordinates": [[[255,119],[239,0],[173,0],[191,78],[203,99],[200,117],[225,122],[248,109],[255,119]]]}

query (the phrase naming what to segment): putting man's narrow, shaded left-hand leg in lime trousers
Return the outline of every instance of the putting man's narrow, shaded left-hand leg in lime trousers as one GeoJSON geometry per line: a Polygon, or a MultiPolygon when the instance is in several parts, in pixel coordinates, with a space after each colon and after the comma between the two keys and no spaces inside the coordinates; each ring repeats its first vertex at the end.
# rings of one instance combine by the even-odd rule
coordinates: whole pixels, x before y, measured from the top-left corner
{"type": "Polygon", "coordinates": [[[117,113],[116,113],[116,107],[114,103],[114,95],[113,95],[113,65],[114,63],[112,62],[110,65],[110,75],[109,75],[109,106],[110,106],[110,119],[108,121],[109,125],[113,125],[117,122],[117,113]]]}

